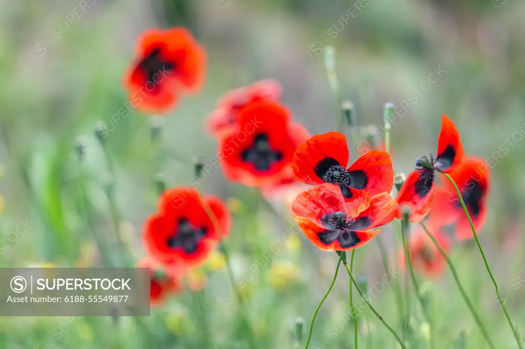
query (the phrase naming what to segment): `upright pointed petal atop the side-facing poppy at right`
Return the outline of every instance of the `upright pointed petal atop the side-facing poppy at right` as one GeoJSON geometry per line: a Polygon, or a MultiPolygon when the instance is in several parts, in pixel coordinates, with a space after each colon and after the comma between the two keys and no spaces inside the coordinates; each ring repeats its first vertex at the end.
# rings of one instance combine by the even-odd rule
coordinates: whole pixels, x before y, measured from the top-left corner
{"type": "Polygon", "coordinates": [[[434,167],[441,172],[454,172],[464,160],[465,150],[463,150],[456,125],[443,114],[434,167]]]}

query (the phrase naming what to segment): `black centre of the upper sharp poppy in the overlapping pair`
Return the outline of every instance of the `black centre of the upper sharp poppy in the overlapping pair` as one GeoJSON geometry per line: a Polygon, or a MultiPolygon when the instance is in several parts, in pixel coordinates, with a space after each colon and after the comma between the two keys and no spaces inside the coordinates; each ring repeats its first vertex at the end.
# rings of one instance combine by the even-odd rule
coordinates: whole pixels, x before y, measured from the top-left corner
{"type": "Polygon", "coordinates": [[[339,184],[341,192],[348,199],[352,198],[352,192],[349,188],[365,189],[368,183],[366,172],[362,170],[349,171],[331,157],[325,157],[319,161],[314,172],[326,183],[339,184]]]}

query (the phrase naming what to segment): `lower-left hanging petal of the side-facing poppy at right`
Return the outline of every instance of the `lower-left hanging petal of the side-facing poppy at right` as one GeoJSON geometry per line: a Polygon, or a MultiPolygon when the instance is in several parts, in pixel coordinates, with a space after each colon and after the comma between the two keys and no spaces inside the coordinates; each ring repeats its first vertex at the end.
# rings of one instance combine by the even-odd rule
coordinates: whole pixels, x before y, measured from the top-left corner
{"type": "Polygon", "coordinates": [[[432,209],[434,171],[415,170],[408,174],[395,201],[399,204],[396,218],[403,219],[403,208],[410,209],[409,221],[421,222],[432,209]]]}

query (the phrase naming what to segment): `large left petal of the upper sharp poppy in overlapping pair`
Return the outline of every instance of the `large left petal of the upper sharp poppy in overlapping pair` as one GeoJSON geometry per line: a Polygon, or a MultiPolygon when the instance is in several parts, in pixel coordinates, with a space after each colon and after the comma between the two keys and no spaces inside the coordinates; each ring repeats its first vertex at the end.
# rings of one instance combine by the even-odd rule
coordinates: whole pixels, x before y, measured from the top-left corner
{"type": "Polygon", "coordinates": [[[301,144],[293,155],[292,169],[301,182],[321,184],[331,166],[346,167],[348,160],[346,137],[339,132],[329,132],[315,135],[301,144]]]}

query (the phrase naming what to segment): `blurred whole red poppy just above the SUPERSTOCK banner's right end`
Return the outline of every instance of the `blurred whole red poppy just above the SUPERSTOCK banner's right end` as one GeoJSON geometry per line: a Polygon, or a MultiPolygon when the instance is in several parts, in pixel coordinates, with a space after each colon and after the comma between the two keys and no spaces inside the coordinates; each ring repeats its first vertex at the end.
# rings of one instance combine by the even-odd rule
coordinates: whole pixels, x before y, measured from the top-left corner
{"type": "Polygon", "coordinates": [[[150,255],[167,268],[196,266],[225,237],[230,224],[229,213],[220,199],[211,195],[201,198],[193,189],[173,188],[161,195],[159,212],[146,221],[144,244],[150,255]],[[213,220],[204,205],[213,212],[213,220]]]}

